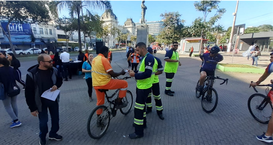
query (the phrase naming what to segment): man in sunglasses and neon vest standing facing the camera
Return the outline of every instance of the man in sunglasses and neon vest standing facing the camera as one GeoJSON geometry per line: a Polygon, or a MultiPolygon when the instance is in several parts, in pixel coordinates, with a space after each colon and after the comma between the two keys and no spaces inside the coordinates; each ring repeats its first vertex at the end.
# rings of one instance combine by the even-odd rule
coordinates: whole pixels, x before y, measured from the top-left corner
{"type": "Polygon", "coordinates": [[[164,66],[164,72],[166,74],[166,89],[165,94],[169,96],[173,96],[175,93],[174,91],[171,91],[172,87],[172,81],[175,73],[177,72],[178,65],[181,66],[181,63],[179,61],[179,54],[176,51],[178,48],[178,43],[173,42],[172,43],[172,49],[167,51],[164,60],[166,61],[164,66]]]}

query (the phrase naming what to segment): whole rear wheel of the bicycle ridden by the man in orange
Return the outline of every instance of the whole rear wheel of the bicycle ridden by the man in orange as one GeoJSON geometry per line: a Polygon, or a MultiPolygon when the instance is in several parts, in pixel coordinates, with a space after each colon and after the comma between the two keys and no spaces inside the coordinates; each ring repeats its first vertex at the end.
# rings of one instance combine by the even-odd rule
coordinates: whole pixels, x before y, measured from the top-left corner
{"type": "Polygon", "coordinates": [[[104,105],[97,106],[93,111],[91,112],[88,121],[87,121],[87,132],[88,135],[92,139],[99,139],[101,138],[107,131],[110,123],[110,112],[108,111],[108,108],[104,105]],[[100,116],[97,116],[97,110],[102,109],[103,112],[100,116]],[[92,116],[94,117],[94,122],[91,123],[92,116]],[[108,121],[106,123],[106,121],[108,121]],[[94,134],[95,132],[102,131],[101,133],[94,134]]]}

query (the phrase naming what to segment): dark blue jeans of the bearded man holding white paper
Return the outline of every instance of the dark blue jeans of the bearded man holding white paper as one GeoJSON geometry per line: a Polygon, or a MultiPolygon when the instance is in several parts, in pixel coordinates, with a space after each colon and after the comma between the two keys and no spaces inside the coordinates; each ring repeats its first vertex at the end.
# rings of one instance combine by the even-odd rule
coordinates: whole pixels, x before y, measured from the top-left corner
{"type": "Polygon", "coordinates": [[[39,112],[39,128],[40,128],[40,139],[45,141],[45,137],[48,133],[48,114],[47,108],[51,117],[51,130],[49,132],[49,137],[55,137],[59,131],[59,104],[57,100],[51,101],[41,97],[42,101],[42,112],[39,112]]]}

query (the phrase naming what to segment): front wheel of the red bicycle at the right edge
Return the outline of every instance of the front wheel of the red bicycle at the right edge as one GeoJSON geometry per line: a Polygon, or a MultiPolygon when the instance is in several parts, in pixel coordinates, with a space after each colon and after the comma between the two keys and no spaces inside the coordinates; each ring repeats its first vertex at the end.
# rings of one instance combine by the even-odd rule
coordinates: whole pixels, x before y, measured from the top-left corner
{"type": "Polygon", "coordinates": [[[250,114],[252,117],[257,120],[259,123],[268,124],[269,119],[271,118],[272,113],[272,104],[270,100],[267,100],[265,95],[263,94],[253,94],[249,97],[247,106],[250,114]],[[251,109],[251,107],[254,106],[254,109],[251,109]],[[260,106],[260,107],[259,107],[260,106]],[[267,107],[268,106],[268,107],[267,107]],[[254,111],[255,113],[254,115],[254,111]],[[262,113],[264,112],[264,115],[262,113]],[[259,117],[259,115],[261,117],[259,117]]]}

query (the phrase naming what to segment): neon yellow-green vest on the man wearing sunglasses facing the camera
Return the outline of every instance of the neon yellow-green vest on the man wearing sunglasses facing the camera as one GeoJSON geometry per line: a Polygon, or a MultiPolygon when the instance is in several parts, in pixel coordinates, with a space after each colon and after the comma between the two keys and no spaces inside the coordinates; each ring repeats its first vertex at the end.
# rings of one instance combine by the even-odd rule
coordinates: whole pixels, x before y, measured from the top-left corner
{"type": "MultiPolygon", "coordinates": [[[[165,57],[164,59],[168,59],[169,57],[165,57]]],[[[172,57],[170,58],[172,60],[179,60],[179,54],[177,51],[173,51],[172,57]]],[[[176,73],[178,68],[179,62],[165,62],[164,66],[164,72],[167,73],[176,73]]]]}

